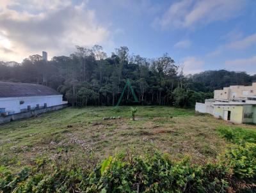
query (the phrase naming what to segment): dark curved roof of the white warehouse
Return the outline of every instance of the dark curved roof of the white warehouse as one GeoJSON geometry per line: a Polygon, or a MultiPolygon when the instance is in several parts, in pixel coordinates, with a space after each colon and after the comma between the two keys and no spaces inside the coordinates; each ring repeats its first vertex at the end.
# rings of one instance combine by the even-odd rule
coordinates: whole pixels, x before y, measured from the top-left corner
{"type": "Polygon", "coordinates": [[[1,82],[0,98],[19,96],[46,96],[61,95],[56,90],[40,84],[28,84],[20,82],[1,82]]]}

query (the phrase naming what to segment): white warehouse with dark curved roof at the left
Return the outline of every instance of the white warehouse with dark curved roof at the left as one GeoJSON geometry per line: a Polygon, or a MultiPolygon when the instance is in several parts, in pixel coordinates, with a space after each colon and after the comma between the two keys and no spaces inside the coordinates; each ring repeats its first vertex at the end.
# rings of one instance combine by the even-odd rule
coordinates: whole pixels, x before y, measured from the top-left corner
{"type": "Polygon", "coordinates": [[[60,93],[47,86],[0,81],[0,114],[15,114],[65,103],[60,93]]]}

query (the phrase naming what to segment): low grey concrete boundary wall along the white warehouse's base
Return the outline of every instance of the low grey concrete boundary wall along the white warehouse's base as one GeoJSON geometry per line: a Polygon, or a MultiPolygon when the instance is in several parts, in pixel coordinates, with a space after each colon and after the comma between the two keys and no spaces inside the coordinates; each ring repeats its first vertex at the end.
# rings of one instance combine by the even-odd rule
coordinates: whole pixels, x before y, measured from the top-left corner
{"type": "Polygon", "coordinates": [[[56,106],[47,107],[44,109],[36,109],[36,110],[27,111],[27,112],[20,112],[20,113],[8,115],[8,116],[0,116],[0,124],[8,123],[10,121],[20,120],[24,118],[30,118],[32,116],[36,116],[37,114],[42,114],[44,112],[49,112],[49,111],[56,111],[59,109],[63,109],[65,107],[67,107],[67,104],[56,105],[56,106]]]}

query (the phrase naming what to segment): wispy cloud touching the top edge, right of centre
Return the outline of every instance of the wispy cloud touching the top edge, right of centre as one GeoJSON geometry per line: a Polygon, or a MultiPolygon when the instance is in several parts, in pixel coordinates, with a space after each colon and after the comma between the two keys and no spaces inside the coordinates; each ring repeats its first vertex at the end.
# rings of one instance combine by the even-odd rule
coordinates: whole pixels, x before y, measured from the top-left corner
{"type": "Polygon", "coordinates": [[[163,28],[188,28],[228,20],[239,15],[244,4],[245,0],[182,0],[171,4],[155,23],[163,28]]]}

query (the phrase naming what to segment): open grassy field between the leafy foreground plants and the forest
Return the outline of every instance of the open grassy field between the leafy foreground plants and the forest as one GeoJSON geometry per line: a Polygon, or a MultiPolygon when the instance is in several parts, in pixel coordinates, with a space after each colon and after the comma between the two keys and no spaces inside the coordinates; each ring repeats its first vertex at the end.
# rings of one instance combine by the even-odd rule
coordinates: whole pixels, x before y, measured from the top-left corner
{"type": "Polygon", "coordinates": [[[127,148],[138,154],[156,149],[170,153],[173,159],[189,155],[193,162],[204,164],[230,145],[217,128],[237,127],[211,115],[173,107],[138,107],[136,118],[131,120],[130,107],[68,107],[0,125],[0,165],[15,170],[63,150],[90,151],[106,158],[127,148]],[[102,120],[106,116],[121,119],[102,120]]]}

